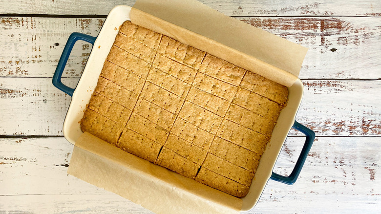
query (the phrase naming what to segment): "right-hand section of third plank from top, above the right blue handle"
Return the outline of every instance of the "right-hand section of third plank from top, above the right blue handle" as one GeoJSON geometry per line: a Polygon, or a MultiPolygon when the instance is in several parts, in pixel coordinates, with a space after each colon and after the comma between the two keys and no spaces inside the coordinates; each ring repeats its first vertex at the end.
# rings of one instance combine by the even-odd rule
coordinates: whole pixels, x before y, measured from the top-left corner
{"type": "Polygon", "coordinates": [[[381,81],[303,81],[303,85],[296,121],[317,135],[381,135],[381,81]]]}

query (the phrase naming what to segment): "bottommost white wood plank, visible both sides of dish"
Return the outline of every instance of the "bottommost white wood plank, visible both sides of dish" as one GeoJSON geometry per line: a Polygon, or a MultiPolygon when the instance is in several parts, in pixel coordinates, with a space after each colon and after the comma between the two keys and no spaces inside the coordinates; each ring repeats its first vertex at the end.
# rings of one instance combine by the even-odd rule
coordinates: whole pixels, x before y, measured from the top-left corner
{"type": "MultiPolygon", "coordinates": [[[[318,137],[292,186],[269,181],[254,213],[375,213],[380,209],[380,137],[318,137]],[[291,201],[303,201],[290,203],[291,201]],[[276,206],[275,206],[276,204],[276,206]],[[324,206],[321,206],[324,205],[324,206]]],[[[289,137],[275,172],[294,167],[303,138],[289,137]]],[[[0,139],[0,210],[6,213],[138,213],[148,210],[66,174],[63,137],[0,139]]]]}

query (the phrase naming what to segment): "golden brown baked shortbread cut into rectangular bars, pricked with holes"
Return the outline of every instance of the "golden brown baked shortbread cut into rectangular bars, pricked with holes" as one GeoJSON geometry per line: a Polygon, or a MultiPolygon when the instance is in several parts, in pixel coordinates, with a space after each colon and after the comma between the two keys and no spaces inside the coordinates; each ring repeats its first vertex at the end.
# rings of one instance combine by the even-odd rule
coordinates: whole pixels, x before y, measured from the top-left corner
{"type": "Polygon", "coordinates": [[[94,91],[84,131],[238,197],[288,96],[285,86],[130,21],[94,91]]]}

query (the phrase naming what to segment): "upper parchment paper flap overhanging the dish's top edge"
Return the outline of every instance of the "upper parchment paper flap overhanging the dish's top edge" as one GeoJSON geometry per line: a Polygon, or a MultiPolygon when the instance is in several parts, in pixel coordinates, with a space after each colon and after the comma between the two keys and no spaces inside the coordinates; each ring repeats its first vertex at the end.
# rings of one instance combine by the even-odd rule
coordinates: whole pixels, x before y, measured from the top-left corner
{"type": "Polygon", "coordinates": [[[137,0],[131,21],[285,86],[299,75],[307,48],[196,0],[137,0]],[[181,27],[179,27],[181,26],[181,27]]]}

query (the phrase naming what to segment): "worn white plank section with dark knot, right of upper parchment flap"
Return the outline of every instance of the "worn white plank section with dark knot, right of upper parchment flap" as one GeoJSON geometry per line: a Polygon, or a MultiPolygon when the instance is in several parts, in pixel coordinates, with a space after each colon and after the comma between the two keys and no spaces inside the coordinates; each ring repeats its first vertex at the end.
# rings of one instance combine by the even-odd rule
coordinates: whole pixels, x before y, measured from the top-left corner
{"type": "Polygon", "coordinates": [[[309,50],[300,79],[381,78],[380,18],[241,18],[309,50]]]}

